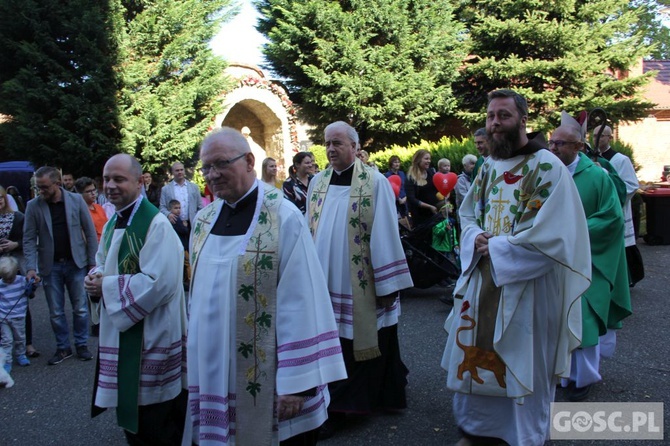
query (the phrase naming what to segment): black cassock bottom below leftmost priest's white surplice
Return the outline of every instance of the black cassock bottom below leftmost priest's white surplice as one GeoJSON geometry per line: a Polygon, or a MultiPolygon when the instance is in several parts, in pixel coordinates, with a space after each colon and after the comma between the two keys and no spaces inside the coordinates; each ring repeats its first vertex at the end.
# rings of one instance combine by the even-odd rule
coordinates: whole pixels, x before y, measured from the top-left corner
{"type": "MultiPolygon", "coordinates": [[[[124,431],[131,446],[178,446],[184,434],[188,391],[162,403],[140,406],[136,434],[124,431]]],[[[118,409],[117,409],[118,410],[118,409]]]]}

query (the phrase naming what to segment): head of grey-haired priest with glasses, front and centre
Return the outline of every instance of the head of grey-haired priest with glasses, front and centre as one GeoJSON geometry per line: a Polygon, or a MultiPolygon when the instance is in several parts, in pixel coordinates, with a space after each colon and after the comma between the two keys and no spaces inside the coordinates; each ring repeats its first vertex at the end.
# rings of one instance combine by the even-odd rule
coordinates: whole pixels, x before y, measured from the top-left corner
{"type": "Polygon", "coordinates": [[[208,134],[200,146],[200,161],[209,190],[229,203],[242,198],[256,181],[249,143],[233,128],[222,127],[208,134]]]}

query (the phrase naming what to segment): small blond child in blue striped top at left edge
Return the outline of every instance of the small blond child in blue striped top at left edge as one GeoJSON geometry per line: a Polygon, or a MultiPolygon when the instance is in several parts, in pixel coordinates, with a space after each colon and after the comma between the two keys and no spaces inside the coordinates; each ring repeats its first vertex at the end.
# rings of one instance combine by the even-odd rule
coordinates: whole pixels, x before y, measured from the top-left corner
{"type": "Polygon", "coordinates": [[[26,278],[18,275],[19,262],[12,256],[0,258],[0,347],[5,351],[5,370],[12,371],[12,347],[16,362],[30,365],[26,357],[26,278]]]}

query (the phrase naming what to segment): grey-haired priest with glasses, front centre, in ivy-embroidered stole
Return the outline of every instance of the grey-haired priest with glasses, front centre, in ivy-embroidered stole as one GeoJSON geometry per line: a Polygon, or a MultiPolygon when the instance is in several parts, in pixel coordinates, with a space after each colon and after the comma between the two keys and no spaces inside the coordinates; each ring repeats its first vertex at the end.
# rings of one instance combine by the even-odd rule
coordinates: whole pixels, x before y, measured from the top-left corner
{"type": "Polygon", "coordinates": [[[307,225],[239,131],[210,133],[200,159],[217,200],[191,233],[183,444],[313,445],[346,371],[307,225]]]}

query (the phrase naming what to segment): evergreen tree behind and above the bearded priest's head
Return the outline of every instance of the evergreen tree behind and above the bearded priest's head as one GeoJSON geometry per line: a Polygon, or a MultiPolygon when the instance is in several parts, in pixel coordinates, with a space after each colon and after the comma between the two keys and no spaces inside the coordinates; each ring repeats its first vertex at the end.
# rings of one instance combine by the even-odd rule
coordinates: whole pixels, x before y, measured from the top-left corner
{"type": "Polygon", "coordinates": [[[498,88],[526,97],[536,130],[555,126],[561,110],[602,107],[614,122],[644,116],[648,75],[627,76],[649,54],[634,32],[639,14],[626,0],[461,0],[471,57],[455,88],[460,117],[481,125],[498,88]]]}

